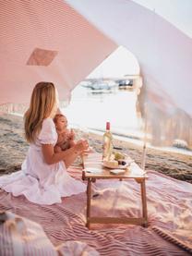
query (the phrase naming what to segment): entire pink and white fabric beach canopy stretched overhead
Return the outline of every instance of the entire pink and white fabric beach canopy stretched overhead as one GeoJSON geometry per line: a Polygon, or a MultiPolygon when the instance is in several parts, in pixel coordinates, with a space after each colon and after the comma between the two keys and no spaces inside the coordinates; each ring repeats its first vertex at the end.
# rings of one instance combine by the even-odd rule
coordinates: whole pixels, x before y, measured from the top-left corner
{"type": "Polygon", "coordinates": [[[40,80],[68,99],[123,45],[138,59],[150,109],[191,121],[191,29],[190,0],[1,1],[0,104],[28,102],[40,80]]]}

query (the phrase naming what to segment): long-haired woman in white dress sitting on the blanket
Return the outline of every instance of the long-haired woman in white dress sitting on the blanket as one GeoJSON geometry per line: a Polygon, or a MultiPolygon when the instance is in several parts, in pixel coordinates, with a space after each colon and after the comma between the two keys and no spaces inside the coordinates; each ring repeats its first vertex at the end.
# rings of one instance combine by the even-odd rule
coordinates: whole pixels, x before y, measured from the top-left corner
{"type": "Polygon", "coordinates": [[[62,197],[86,190],[85,184],[70,177],[66,168],[79,154],[88,149],[86,140],[70,149],[54,152],[57,132],[53,117],[57,105],[57,92],[52,82],[39,82],[32,91],[30,108],[25,113],[25,137],[30,149],[21,171],[0,177],[0,188],[14,196],[24,195],[39,204],[61,202],[62,197]]]}

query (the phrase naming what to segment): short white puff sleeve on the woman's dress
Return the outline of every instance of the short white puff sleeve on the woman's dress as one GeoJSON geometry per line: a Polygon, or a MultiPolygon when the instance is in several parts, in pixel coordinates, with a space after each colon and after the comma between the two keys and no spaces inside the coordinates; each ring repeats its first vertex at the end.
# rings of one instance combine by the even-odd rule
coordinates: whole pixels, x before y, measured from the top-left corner
{"type": "Polygon", "coordinates": [[[38,136],[41,144],[55,144],[57,133],[52,118],[46,118],[42,121],[42,130],[38,136]]]}

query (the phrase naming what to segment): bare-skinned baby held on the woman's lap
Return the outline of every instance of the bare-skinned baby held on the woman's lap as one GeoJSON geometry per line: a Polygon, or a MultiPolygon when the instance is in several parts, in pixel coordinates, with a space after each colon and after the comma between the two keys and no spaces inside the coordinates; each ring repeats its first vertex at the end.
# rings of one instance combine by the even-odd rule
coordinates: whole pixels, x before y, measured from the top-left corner
{"type": "Polygon", "coordinates": [[[54,146],[54,152],[66,151],[73,147],[76,142],[75,133],[72,129],[67,128],[66,116],[62,114],[56,114],[54,116],[54,124],[58,134],[58,140],[54,146]]]}

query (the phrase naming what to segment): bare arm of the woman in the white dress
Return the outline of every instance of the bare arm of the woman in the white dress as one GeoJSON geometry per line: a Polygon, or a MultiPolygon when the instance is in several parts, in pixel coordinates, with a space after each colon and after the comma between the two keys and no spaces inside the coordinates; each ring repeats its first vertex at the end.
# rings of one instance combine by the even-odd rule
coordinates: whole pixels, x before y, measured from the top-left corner
{"type": "Polygon", "coordinates": [[[54,146],[42,144],[42,154],[47,165],[53,165],[59,161],[64,161],[66,168],[73,164],[78,155],[89,147],[87,140],[79,140],[76,145],[66,151],[54,152],[54,146]]]}

